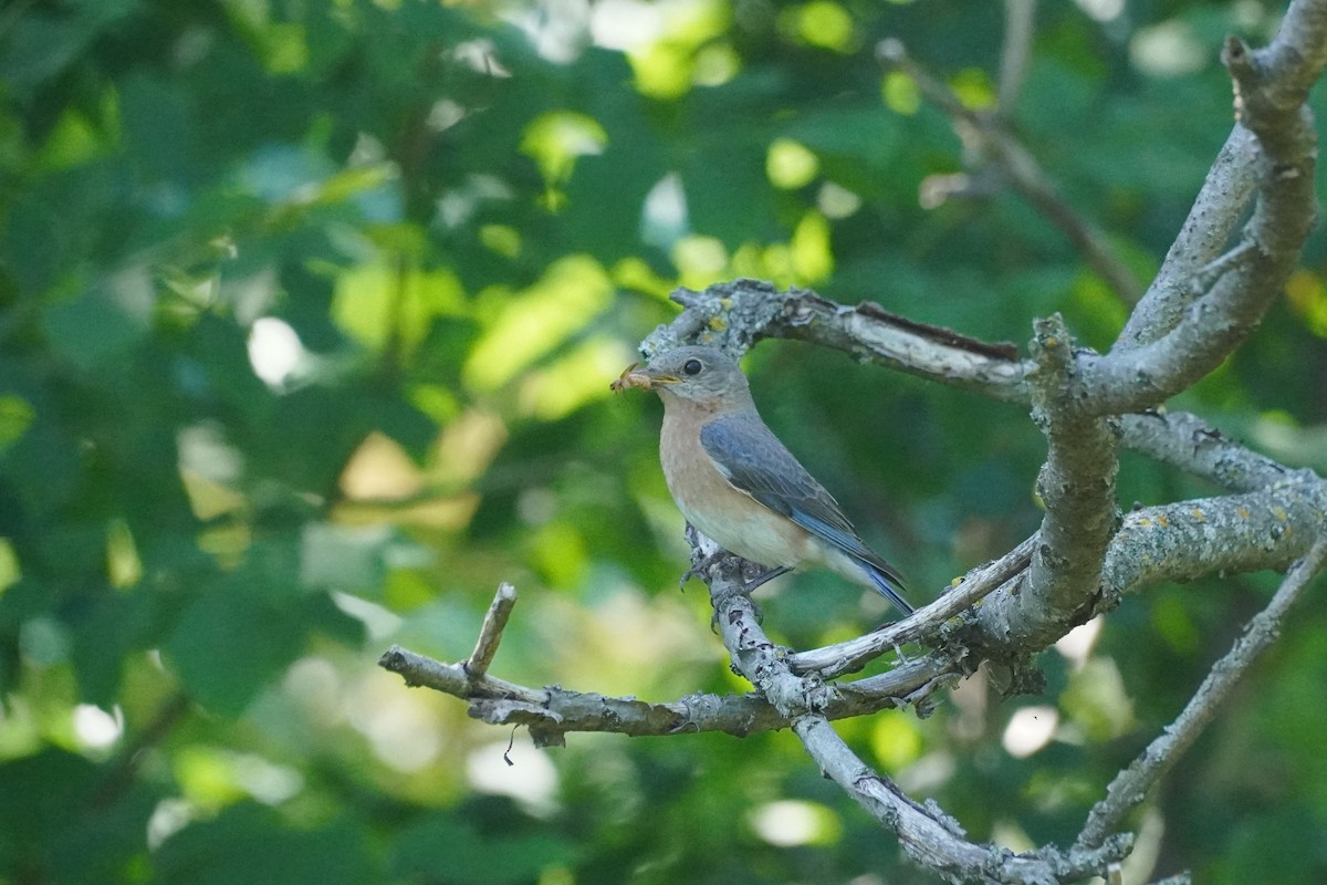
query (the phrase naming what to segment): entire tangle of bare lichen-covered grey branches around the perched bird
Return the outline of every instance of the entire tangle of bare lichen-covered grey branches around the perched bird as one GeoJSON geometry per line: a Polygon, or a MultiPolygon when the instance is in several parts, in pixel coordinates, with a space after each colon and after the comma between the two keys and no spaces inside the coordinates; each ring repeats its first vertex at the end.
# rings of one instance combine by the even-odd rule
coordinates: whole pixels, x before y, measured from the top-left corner
{"type": "MultiPolygon", "coordinates": [[[[1030,8],[1026,0],[1007,3],[1011,33],[1002,106],[1022,76],[1026,34],[1015,38],[1014,31],[1026,29],[1030,8]],[[1015,28],[1016,23],[1022,24],[1015,28]]],[[[1327,0],[1294,0],[1266,49],[1226,42],[1222,61],[1234,86],[1238,123],[1141,295],[1104,238],[1055,194],[1001,114],[965,109],[897,41],[881,44],[880,57],[908,73],[983,149],[983,162],[1001,170],[997,183],[1009,180],[1019,190],[1079,245],[1121,300],[1133,304],[1113,346],[1105,353],[1076,350],[1063,320],[1052,316],[1036,322],[1031,358],[1024,360],[1013,346],[974,341],[874,304],[839,305],[804,289],[776,292],[764,283],[736,280],[705,292],[675,292],[682,314],[641,349],[652,354],[701,341],[739,354],[760,338],[799,338],[1023,406],[1047,439],[1038,478],[1046,516],[1036,535],[898,624],[807,651],[774,645],[754,602],[740,592],[742,563],[706,560],[713,551],[697,543],[693,563],[705,564],[714,626],[734,670],[755,686],[755,694],[648,703],[496,679],[488,669],[516,601],[510,585],[499,588],[467,661],[446,665],[393,647],[381,665],[407,685],[466,699],[471,715],[486,722],[527,724],[543,744],[563,743],[569,731],[744,735],[791,727],[825,776],[897,833],[909,856],[947,881],[1050,885],[1089,874],[1119,881],[1132,837],[1116,831],[1216,716],[1327,563],[1323,478],[1287,470],[1193,415],[1164,410],[1169,397],[1220,365],[1253,332],[1314,223],[1316,135],[1304,98],[1327,66],[1327,0]],[[1250,199],[1251,215],[1245,211],[1250,199]],[[1209,479],[1225,494],[1121,515],[1115,488],[1121,446],[1209,479]],[[1014,854],[969,841],[934,803],[918,804],[857,758],[831,724],[900,705],[925,713],[936,691],[982,659],[1026,659],[1149,584],[1266,568],[1289,569],[1271,602],[1174,723],[1105,789],[1068,849],[1014,854]],[[930,649],[852,683],[833,682],[909,642],[930,649]]]]}

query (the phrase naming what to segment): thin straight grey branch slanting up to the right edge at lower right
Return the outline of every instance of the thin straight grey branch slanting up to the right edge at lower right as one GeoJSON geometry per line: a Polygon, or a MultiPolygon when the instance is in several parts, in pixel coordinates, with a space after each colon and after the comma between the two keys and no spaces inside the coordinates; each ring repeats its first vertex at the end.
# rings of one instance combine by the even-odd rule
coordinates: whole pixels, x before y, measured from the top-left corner
{"type": "Polygon", "coordinates": [[[1079,845],[1095,848],[1103,844],[1119,828],[1124,816],[1147,797],[1156,782],[1193,746],[1258,655],[1275,641],[1286,612],[1323,568],[1324,560],[1327,541],[1319,540],[1304,559],[1290,568],[1271,602],[1254,616],[1245,634],[1217,661],[1184,711],[1111,782],[1105,797],[1088,813],[1078,837],[1079,845]]]}

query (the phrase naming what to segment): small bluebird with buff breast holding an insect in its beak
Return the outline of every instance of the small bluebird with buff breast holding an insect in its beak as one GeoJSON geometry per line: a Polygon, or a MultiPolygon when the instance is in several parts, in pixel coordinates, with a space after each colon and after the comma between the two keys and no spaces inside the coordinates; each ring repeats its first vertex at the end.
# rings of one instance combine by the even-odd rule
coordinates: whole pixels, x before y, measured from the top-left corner
{"type": "Polygon", "coordinates": [[[760,421],[734,360],[714,348],[675,348],[629,368],[612,387],[658,391],[660,460],[673,500],[702,535],[770,569],[748,589],[817,563],[912,613],[898,572],[760,421]]]}

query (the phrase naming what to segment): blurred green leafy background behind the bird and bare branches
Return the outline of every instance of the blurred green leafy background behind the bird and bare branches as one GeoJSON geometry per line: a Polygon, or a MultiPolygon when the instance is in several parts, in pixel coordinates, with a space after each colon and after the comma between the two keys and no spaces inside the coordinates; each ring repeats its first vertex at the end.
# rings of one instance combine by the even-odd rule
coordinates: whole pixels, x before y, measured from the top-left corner
{"type": "MultiPolygon", "coordinates": [[[[675,588],[658,405],[608,394],[675,285],[812,285],[1016,342],[1060,310],[1109,344],[1125,308],[1022,200],[918,203],[962,149],[874,45],[989,105],[1001,11],[0,8],[0,882],[932,881],[788,734],[518,734],[508,767],[512,735],[374,661],[466,657],[511,580],[503,677],[746,690],[675,588]]],[[[1013,122],[1141,280],[1230,127],[1221,37],[1277,13],[1040,5],[1013,122]]],[[[1319,471],[1324,271],[1315,238],[1181,398],[1319,471]]],[[[805,345],[748,368],[918,597],[1035,527],[1016,410],[805,345]]],[[[1121,490],[1213,491],[1133,456],[1121,490]]],[[[1044,698],[978,679],[841,730],[975,839],[1070,839],[1274,582],[1128,600],[1043,655],[1044,698]]],[[[884,616],[831,576],[782,584],[794,645],[884,616]]],[[[1323,617],[1319,594],[1136,821],[1137,876],[1327,877],[1323,617]]]]}

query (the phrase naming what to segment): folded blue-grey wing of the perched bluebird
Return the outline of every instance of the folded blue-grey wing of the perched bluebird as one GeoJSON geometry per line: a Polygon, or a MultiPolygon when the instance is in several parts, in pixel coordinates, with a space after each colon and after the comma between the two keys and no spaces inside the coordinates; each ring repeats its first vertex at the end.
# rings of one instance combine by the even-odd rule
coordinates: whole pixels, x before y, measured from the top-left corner
{"type": "Polygon", "coordinates": [[[902,585],[898,572],[861,543],[839,502],[798,463],[755,411],[714,418],[701,427],[701,446],[734,488],[902,585]]]}

